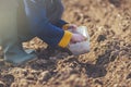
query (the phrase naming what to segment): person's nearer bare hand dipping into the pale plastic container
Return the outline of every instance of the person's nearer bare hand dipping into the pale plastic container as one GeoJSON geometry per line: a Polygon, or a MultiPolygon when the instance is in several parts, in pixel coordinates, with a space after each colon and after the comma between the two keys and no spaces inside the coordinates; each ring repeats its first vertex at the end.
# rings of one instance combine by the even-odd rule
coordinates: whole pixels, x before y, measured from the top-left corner
{"type": "Polygon", "coordinates": [[[72,34],[72,38],[71,38],[71,44],[76,44],[76,42],[81,42],[81,41],[84,41],[86,40],[86,37],[84,37],[83,35],[81,34],[72,34]]]}

